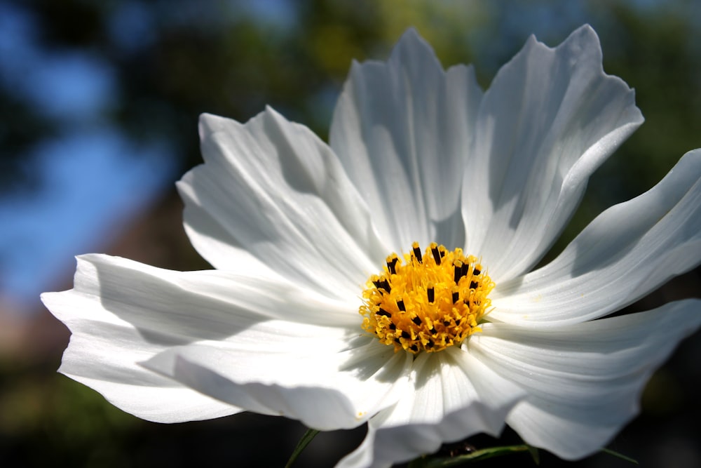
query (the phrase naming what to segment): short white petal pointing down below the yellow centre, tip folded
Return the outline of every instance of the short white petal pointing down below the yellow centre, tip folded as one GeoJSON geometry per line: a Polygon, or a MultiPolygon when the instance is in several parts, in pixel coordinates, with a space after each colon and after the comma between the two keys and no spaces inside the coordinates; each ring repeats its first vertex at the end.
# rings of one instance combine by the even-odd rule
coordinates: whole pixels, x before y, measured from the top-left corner
{"type": "Polygon", "coordinates": [[[412,386],[368,423],[365,441],[339,467],[389,467],[479,432],[498,436],[522,389],[462,349],[421,354],[412,386]]]}

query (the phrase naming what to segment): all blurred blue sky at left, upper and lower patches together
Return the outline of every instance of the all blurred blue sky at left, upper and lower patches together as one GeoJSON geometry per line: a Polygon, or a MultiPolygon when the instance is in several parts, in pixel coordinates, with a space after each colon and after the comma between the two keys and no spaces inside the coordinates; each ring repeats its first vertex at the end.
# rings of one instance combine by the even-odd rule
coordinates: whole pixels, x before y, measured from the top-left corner
{"type": "Polygon", "coordinates": [[[1,84],[61,122],[59,135],[34,149],[39,189],[0,199],[0,291],[20,308],[34,308],[74,255],[104,248],[177,178],[166,145],[139,147],[101,121],[118,98],[109,63],[49,55],[35,36],[31,16],[0,5],[1,84]]]}

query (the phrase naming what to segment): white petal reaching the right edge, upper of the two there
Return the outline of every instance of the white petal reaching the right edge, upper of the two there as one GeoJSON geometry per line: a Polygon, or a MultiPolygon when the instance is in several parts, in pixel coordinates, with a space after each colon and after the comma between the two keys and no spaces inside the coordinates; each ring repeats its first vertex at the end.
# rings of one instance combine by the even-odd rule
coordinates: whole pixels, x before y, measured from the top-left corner
{"type": "Polygon", "coordinates": [[[495,321],[533,325],[604,316],[701,262],[701,150],[648,192],[601,213],[549,265],[498,284],[495,321]]]}

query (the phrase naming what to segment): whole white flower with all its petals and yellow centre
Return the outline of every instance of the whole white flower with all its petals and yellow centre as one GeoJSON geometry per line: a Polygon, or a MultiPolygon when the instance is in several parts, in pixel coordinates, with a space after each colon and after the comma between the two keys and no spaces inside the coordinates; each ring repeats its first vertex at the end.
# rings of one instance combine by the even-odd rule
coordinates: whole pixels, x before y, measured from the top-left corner
{"type": "Polygon", "coordinates": [[[245,124],[205,115],[205,164],[178,187],[186,232],[216,269],[80,257],[74,288],[42,296],[73,333],[60,371],[158,422],[242,410],[322,430],[368,422],[343,467],[505,423],[584,457],[701,323],[699,300],[600,319],[701,262],[699,150],[530,272],[642,121],[590,27],[554,49],[529,39],[485,93],[410,30],[388,62],[353,64],[330,145],[269,108],[245,124]],[[436,273],[433,242],[470,265],[447,274],[470,281],[436,273]],[[391,253],[412,266],[391,275],[391,253]]]}

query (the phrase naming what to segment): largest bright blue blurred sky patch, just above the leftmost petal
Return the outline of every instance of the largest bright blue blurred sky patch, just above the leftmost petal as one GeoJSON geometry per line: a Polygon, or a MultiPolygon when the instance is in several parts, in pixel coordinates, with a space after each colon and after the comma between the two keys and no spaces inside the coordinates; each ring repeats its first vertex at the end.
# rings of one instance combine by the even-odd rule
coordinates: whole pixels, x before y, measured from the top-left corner
{"type": "Polygon", "coordinates": [[[165,154],[109,130],[69,135],[38,152],[39,191],[0,203],[0,289],[29,304],[74,267],[73,255],[104,248],[175,178],[165,154]]]}

